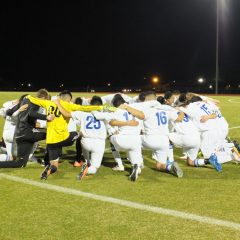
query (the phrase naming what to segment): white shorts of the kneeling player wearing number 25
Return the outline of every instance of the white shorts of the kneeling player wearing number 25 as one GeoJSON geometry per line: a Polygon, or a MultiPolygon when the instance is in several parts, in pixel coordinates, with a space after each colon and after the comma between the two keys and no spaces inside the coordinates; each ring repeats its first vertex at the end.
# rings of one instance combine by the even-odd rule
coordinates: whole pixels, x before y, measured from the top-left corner
{"type": "Polygon", "coordinates": [[[84,158],[90,160],[92,166],[99,168],[105,151],[105,139],[83,137],[81,144],[84,158]]]}

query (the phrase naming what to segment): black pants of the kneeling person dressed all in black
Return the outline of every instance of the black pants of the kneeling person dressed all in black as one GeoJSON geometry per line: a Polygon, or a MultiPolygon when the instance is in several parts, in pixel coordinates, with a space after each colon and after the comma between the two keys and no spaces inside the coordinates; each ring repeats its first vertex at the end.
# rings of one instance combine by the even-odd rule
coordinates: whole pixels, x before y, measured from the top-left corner
{"type": "Polygon", "coordinates": [[[0,168],[25,167],[32,151],[33,144],[44,139],[46,139],[46,133],[44,132],[28,132],[25,135],[16,138],[17,160],[0,162],[0,168]]]}

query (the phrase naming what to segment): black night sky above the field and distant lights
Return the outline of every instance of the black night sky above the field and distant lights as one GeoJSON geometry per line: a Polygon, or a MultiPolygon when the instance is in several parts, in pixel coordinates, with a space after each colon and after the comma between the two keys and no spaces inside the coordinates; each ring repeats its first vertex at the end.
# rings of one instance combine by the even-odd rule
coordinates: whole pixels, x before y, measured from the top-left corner
{"type": "MultiPolygon", "coordinates": [[[[240,84],[240,1],[220,22],[220,85],[240,84]]],[[[0,90],[82,89],[215,76],[215,0],[8,1],[0,10],[0,90]],[[7,4],[7,5],[6,5],[7,4]]],[[[175,85],[173,86],[173,81],[175,85]]]]}

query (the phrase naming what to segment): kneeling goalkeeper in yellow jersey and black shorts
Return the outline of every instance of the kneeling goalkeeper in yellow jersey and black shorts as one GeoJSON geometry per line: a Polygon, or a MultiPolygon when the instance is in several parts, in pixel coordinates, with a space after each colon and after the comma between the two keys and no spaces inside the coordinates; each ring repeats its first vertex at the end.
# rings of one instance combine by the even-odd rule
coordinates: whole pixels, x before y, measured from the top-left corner
{"type": "MultiPolygon", "coordinates": [[[[55,115],[54,120],[47,123],[46,143],[49,162],[46,164],[46,168],[41,174],[41,179],[46,180],[50,174],[57,171],[59,157],[62,154],[62,147],[71,146],[78,138],[78,133],[68,132],[69,118],[66,118],[61,114],[56,103],[50,100],[35,98],[30,95],[27,96],[27,98],[33,104],[45,108],[47,115],[55,115]]],[[[72,94],[69,91],[61,92],[59,98],[61,105],[69,112],[77,110],[91,112],[103,109],[103,106],[81,106],[71,103],[72,94]]]]}

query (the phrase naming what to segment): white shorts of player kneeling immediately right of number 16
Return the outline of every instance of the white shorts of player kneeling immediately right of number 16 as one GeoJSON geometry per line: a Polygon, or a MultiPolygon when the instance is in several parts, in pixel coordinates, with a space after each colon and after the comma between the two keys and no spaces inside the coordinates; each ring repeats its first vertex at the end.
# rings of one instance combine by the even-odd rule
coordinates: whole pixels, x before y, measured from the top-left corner
{"type": "Polygon", "coordinates": [[[198,150],[201,144],[199,134],[186,135],[173,132],[169,134],[169,139],[175,147],[182,148],[188,158],[191,160],[195,160],[197,158],[198,150]]]}

